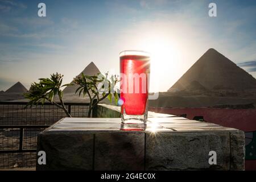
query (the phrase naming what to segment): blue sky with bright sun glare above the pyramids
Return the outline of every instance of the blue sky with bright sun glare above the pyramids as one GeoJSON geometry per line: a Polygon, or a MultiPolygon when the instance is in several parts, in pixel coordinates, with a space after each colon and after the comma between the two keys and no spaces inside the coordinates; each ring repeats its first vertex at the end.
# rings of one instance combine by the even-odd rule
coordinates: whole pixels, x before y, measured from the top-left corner
{"type": "Polygon", "coordinates": [[[54,72],[68,83],[90,61],[118,73],[124,49],[155,56],[151,91],[166,91],[209,48],[256,77],[255,17],[254,0],[0,0],[0,90],[54,72]],[[38,17],[40,2],[46,17],[38,17]],[[217,17],[208,16],[210,2],[217,17]]]}

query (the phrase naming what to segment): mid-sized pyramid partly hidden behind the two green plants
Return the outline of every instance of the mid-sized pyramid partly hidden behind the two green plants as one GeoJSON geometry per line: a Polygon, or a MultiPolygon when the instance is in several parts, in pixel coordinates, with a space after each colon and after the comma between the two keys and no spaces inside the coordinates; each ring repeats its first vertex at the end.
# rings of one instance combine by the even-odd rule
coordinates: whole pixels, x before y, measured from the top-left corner
{"type": "MultiPolygon", "coordinates": [[[[96,75],[97,76],[98,73],[101,73],[101,72],[93,62],[90,62],[90,64],[88,64],[88,66],[85,67],[84,71],[82,71],[77,76],[81,76],[82,73],[84,73],[84,75],[89,75],[89,76],[96,75]]],[[[71,84],[74,84],[74,82],[72,81],[71,84]]],[[[64,94],[75,94],[77,88],[79,88],[78,85],[66,86],[66,88],[63,90],[63,93],[64,94]]]]}

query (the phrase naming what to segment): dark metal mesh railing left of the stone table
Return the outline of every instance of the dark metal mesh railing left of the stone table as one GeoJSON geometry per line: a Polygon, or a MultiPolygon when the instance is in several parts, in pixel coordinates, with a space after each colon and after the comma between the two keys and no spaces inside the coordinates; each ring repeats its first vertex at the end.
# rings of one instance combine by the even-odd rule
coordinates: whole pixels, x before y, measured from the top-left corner
{"type": "MultiPolygon", "coordinates": [[[[67,117],[51,103],[24,108],[27,102],[0,102],[0,169],[35,167],[36,136],[67,117]]],[[[65,103],[72,117],[87,117],[89,103],[65,103]]],[[[92,111],[96,117],[97,107],[92,111]]]]}

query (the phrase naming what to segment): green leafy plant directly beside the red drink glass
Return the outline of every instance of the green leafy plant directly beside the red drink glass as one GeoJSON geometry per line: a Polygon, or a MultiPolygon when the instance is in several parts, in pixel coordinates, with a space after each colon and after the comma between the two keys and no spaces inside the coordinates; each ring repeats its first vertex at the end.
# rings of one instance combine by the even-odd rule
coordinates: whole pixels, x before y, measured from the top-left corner
{"type": "Polygon", "coordinates": [[[90,117],[92,109],[105,98],[108,98],[112,102],[112,96],[114,96],[115,103],[118,101],[118,90],[115,88],[115,84],[118,82],[116,75],[108,78],[108,73],[105,76],[102,74],[98,74],[98,76],[86,76],[82,73],[81,76],[75,78],[74,82],[79,85],[76,93],[79,92],[79,96],[81,94],[83,96],[87,94],[90,99],[88,117],[90,117]],[[93,102],[94,99],[97,99],[97,101],[93,102]]]}

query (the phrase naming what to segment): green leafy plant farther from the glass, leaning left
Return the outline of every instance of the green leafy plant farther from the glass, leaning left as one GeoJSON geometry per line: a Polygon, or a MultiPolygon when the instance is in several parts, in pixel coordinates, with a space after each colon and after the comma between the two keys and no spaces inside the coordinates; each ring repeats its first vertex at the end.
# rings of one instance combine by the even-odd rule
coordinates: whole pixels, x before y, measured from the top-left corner
{"type": "Polygon", "coordinates": [[[71,84],[61,85],[62,80],[63,75],[59,73],[53,73],[50,78],[39,78],[38,83],[32,83],[30,90],[28,90],[27,93],[24,93],[24,97],[30,100],[26,107],[38,105],[39,102],[41,102],[43,105],[45,101],[49,101],[51,104],[63,109],[67,117],[71,117],[64,105],[63,91],[60,89],[63,86],[68,86],[71,84]],[[53,100],[56,95],[59,97],[60,104],[53,100]]]}

